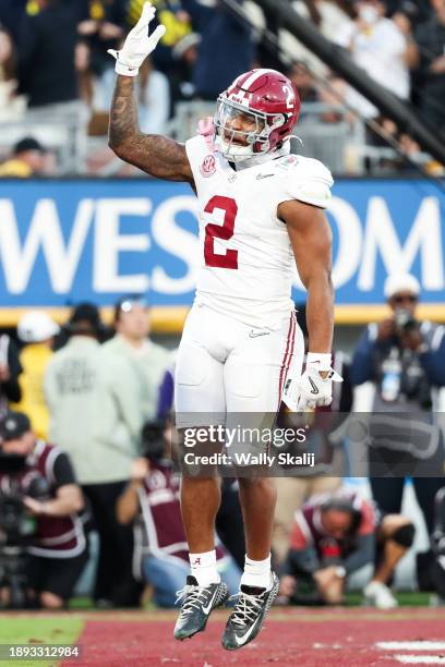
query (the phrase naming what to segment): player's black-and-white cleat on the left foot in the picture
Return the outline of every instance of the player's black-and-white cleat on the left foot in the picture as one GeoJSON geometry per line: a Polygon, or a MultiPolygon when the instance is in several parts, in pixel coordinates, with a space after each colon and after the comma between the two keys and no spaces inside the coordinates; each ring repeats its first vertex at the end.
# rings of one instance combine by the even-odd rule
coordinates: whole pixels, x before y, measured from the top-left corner
{"type": "Polygon", "coordinates": [[[182,599],[182,604],[175,626],[175,638],[184,640],[205,630],[211,611],[226,602],[228,592],[222,582],[199,586],[196,579],[189,574],[185,586],[177,595],[177,602],[182,599]]]}

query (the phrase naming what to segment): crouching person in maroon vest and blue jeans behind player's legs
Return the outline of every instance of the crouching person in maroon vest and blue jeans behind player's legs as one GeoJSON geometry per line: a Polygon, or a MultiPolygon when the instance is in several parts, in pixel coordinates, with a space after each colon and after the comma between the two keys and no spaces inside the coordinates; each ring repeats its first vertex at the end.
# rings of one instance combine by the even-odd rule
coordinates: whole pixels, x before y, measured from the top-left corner
{"type": "MultiPolygon", "coordinates": [[[[154,587],[157,605],[173,607],[190,566],[181,520],[180,477],[168,456],[170,436],[163,432],[164,424],[149,429],[145,457],[133,462],[131,482],[119,498],[117,510],[120,522],[134,522],[135,574],[154,587]]],[[[241,570],[224,547],[217,546],[216,551],[221,580],[234,595],[241,570]]]]}

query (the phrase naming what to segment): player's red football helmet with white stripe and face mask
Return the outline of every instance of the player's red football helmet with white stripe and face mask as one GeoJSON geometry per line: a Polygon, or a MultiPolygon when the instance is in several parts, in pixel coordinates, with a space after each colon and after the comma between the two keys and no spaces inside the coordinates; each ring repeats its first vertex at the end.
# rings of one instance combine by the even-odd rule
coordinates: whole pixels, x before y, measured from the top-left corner
{"type": "Polygon", "coordinates": [[[300,114],[294,84],[276,70],[251,70],[240,74],[217,99],[215,144],[230,161],[274,153],[289,138],[300,114]],[[236,117],[252,117],[249,132],[227,126],[236,117]],[[237,141],[244,135],[248,145],[237,141]]]}

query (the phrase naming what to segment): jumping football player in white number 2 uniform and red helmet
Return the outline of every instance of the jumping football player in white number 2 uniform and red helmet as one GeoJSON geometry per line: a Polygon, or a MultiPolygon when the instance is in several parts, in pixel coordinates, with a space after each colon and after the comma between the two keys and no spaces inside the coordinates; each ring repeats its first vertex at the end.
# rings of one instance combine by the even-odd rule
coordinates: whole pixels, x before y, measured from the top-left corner
{"type": "MultiPolygon", "coordinates": [[[[165,33],[148,35],[155,9],[141,19],[116,58],[109,145],[124,161],[159,179],[184,181],[199,203],[201,268],[176,366],[178,428],[209,426],[230,415],[273,420],[289,367],[298,378],[298,410],[332,400],[333,286],[330,229],[323,209],[333,179],[317,160],[290,155],[300,100],[275,70],[238,76],[217,100],[213,124],[185,145],[139,129],[135,77],[165,33]],[[308,290],[310,352],[303,375],[303,338],[290,299],[294,265],[308,290]]],[[[218,48],[221,48],[219,45],[218,48]]],[[[226,420],[226,421],[225,421],[226,420]]],[[[238,602],[222,645],[237,650],[258,633],[278,591],[270,571],[275,490],[265,476],[240,477],[246,555],[238,602]]],[[[204,630],[227,597],[216,569],[218,480],[182,480],[181,509],[191,574],[181,592],[179,640],[204,630]]]]}

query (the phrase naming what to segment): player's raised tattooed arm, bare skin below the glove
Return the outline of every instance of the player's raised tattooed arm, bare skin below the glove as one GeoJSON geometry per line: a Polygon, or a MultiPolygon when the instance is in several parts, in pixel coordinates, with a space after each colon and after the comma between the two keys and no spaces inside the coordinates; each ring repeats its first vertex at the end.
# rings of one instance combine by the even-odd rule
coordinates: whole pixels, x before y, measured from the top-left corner
{"type": "Polygon", "coordinates": [[[146,173],[168,181],[193,184],[185,147],[157,134],[143,134],[139,128],[134,77],[118,75],[109,121],[109,146],[122,160],[146,173]]]}

